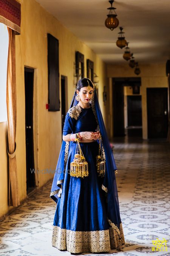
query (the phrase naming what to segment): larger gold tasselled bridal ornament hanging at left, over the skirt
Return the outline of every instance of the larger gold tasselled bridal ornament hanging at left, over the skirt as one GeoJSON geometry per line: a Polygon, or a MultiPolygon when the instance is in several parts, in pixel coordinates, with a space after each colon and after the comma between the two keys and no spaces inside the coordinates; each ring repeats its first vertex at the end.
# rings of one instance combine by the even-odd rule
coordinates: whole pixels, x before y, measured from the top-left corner
{"type": "Polygon", "coordinates": [[[80,148],[79,138],[76,138],[75,141],[77,141],[76,152],[73,162],[70,163],[70,175],[77,178],[84,178],[88,176],[88,162],[80,148]]]}

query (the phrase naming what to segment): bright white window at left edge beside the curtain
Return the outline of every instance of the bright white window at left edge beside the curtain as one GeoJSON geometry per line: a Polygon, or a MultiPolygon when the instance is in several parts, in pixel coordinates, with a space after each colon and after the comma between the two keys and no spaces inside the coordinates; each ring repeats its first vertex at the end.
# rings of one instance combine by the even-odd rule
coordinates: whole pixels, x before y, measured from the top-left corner
{"type": "Polygon", "coordinates": [[[7,121],[6,72],[8,60],[8,30],[0,23],[0,122],[7,121]]]}

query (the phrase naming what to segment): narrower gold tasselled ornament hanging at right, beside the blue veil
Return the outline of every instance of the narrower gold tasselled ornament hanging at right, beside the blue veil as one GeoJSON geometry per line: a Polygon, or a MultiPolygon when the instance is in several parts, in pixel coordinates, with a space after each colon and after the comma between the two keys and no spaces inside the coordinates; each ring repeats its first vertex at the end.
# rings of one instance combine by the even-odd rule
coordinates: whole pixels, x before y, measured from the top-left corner
{"type": "Polygon", "coordinates": [[[102,143],[101,143],[102,138],[99,138],[99,155],[96,156],[96,167],[97,167],[97,173],[99,177],[104,177],[105,176],[105,160],[103,159],[103,154],[102,154],[102,143]]]}

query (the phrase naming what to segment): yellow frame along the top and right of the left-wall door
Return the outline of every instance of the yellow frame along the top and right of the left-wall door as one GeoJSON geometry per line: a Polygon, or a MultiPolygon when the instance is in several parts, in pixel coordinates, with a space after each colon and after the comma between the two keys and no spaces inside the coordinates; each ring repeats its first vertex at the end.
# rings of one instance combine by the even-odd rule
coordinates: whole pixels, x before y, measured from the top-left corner
{"type": "MultiPolygon", "coordinates": [[[[24,66],[24,70],[34,69],[33,81],[33,148],[34,148],[34,171],[35,171],[35,188],[39,187],[39,170],[38,167],[38,90],[37,90],[37,69],[30,66],[24,66]]],[[[34,189],[35,189],[34,188],[34,189]]]]}

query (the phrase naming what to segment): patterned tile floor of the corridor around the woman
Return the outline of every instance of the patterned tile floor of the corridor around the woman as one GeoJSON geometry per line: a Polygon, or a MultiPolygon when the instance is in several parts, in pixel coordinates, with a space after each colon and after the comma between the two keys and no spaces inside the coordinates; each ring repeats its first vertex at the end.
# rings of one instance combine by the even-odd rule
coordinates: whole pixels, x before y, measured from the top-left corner
{"type": "MultiPolygon", "coordinates": [[[[170,144],[118,138],[114,157],[126,244],[122,251],[83,255],[170,256],[170,144]],[[168,251],[152,251],[156,238],[167,240],[168,251]]],[[[51,246],[56,206],[50,189],[51,182],[0,222],[0,256],[71,255],[51,246]]]]}

